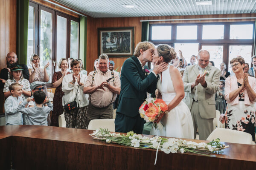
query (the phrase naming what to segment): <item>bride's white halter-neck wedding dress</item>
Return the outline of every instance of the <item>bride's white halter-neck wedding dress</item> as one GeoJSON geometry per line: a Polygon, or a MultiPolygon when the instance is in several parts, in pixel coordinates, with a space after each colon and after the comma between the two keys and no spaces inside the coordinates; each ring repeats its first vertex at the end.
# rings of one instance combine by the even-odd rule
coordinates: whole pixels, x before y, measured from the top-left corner
{"type": "MultiPolygon", "coordinates": [[[[162,99],[167,105],[176,96],[169,69],[170,66],[166,71],[163,71],[162,80],[160,77],[157,82],[157,89],[162,94],[162,99]]],[[[158,130],[155,130],[154,126],[151,127],[151,135],[194,139],[192,116],[183,101],[163,116],[157,126],[159,127],[158,130]]]]}

